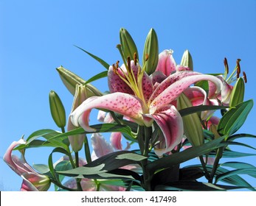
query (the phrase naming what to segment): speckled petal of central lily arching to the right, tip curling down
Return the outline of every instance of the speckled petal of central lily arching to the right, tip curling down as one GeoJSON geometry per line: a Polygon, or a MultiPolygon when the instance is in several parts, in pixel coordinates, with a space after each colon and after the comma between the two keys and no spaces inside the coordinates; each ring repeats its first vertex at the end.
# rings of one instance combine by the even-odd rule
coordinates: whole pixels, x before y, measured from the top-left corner
{"type": "MultiPolygon", "coordinates": [[[[207,74],[195,75],[194,72],[192,71],[180,71],[177,73],[191,73],[193,75],[176,80],[176,82],[173,82],[173,84],[168,86],[165,90],[162,91],[162,93],[156,96],[156,99],[154,99],[153,102],[151,102],[150,113],[154,113],[159,107],[169,104],[170,102],[175,100],[190,85],[201,80],[208,80],[208,81],[214,82],[215,85],[217,86],[216,93],[218,93],[221,90],[221,85],[222,85],[221,80],[212,75],[207,75],[207,74]]],[[[159,86],[161,85],[162,84],[160,84],[159,86]]]]}

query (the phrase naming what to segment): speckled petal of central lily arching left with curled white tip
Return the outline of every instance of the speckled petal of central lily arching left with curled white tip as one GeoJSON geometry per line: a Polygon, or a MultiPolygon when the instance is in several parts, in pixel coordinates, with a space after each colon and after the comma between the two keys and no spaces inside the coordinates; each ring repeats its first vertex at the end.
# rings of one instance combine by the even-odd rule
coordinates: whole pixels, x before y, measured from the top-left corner
{"type": "Polygon", "coordinates": [[[136,96],[120,92],[86,99],[83,104],[70,114],[72,123],[77,127],[80,125],[86,131],[95,131],[95,129],[89,127],[89,115],[93,108],[111,110],[132,118],[138,124],[143,124],[140,100],[136,96]]]}

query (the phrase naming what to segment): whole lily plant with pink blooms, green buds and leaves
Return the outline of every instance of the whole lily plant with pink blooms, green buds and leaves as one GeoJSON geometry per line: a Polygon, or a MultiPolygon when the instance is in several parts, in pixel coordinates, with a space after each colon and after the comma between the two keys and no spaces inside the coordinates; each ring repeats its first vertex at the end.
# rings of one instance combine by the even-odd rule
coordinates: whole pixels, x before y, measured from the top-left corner
{"type": "Polygon", "coordinates": [[[87,81],[62,66],[57,69],[74,96],[69,117],[51,90],[50,111],[60,131],[39,129],[26,141],[11,143],[4,155],[23,180],[21,191],[46,191],[50,184],[55,191],[256,191],[255,181],[241,176],[255,178],[256,167],[237,159],[255,153],[229,147],[256,150],[242,143],[256,136],[239,133],[254,104],[244,100],[247,79],[244,71],[241,75],[241,60],[231,74],[226,58],[223,74],[203,74],[188,50],[179,64],[173,50],[159,53],[154,29],[142,57],[124,28],[117,49],[121,57],[113,57],[118,60],[113,65],[81,49],[107,70],[87,81]],[[104,93],[92,85],[101,78],[108,80],[104,93]],[[91,110],[98,110],[96,117],[91,110]],[[32,168],[25,151],[46,146],[52,149],[48,164],[32,168]],[[56,153],[62,158],[54,163],[56,153]],[[190,165],[190,160],[198,163],[190,165]]]}

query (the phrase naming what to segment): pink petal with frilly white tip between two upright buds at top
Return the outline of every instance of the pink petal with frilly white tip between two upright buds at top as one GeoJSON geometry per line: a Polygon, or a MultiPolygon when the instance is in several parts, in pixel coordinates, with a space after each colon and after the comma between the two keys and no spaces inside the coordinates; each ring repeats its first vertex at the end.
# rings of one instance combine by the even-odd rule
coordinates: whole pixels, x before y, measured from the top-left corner
{"type": "Polygon", "coordinates": [[[166,76],[169,76],[173,71],[176,71],[176,62],[173,59],[173,50],[166,49],[159,54],[156,71],[162,71],[166,76]]]}

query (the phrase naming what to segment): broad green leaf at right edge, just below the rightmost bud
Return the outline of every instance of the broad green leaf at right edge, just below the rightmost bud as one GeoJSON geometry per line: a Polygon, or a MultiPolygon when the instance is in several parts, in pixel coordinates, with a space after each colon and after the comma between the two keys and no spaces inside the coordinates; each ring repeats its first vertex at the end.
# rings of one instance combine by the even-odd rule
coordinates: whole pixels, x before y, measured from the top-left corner
{"type": "Polygon", "coordinates": [[[221,135],[232,135],[240,129],[252,110],[253,100],[238,104],[235,108],[227,111],[218,124],[218,132],[221,135]]]}

